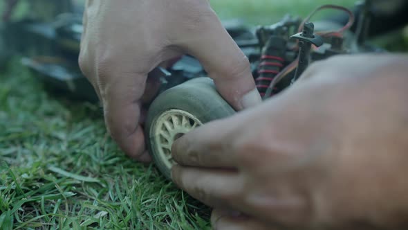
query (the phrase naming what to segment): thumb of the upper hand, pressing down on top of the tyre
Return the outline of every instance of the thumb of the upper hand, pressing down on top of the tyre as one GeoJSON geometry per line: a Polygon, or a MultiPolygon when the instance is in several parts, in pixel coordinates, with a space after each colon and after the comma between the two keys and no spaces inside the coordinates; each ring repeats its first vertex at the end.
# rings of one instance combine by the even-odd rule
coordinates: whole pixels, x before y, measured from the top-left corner
{"type": "Polygon", "coordinates": [[[261,103],[248,58],[213,10],[203,15],[185,37],[181,46],[203,64],[216,89],[232,107],[241,110],[261,103]]]}

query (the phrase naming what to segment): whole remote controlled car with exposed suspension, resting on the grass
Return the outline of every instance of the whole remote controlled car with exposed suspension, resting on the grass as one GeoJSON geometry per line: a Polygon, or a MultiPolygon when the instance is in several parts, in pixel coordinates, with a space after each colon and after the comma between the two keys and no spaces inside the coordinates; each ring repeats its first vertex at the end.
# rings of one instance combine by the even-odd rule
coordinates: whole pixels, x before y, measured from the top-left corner
{"type": "MultiPolygon", "coordinates": [[[[315,15],[312,12],[303,20],[286,16],[270,26],[247,28],[225,24],[225,28],[250,60],[257,89],[265,100],[290,87],[312,62],[339,54],[384,52],[366,42],[372,15],[370,3],[365,1],[358,6],[358,17],[340,6],[327,5],[315,10],[345,12],[348,19],[344,24],[339,22],[342,20],[312,23],[310,18],[315,15]]],[[[24,20],[5,24],[0,45],[3,41],[8,50],[26,55],[23,64],[44,80],[48,89],[98,101],[93,87],[77,67],[81,34],[79,10],[59,15],[52,22],[24,20]]],[[[158,169],[170,179],[174,140],[204,123],[232,116],[235,111],[192,56],[181,57],[169,69],[154,69],[149,77],[159,77],[163,84],[149,106],[145,123],[147,146],[158,169]]]]}

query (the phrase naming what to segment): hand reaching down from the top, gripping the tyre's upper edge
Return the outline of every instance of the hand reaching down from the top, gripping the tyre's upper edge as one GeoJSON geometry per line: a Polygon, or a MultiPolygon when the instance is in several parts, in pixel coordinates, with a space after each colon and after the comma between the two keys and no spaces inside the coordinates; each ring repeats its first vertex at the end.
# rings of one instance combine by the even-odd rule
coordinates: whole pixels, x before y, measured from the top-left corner
{"type": "Polygon", "coordinates": [[[207,0],[87,1],[80,68],[103,103],[111,136],[130,157],[150,159],[141,106],[158,82],[147,73],[185,53],[200,60],[235,109],[261,102],[247,57],[207,0]]]}

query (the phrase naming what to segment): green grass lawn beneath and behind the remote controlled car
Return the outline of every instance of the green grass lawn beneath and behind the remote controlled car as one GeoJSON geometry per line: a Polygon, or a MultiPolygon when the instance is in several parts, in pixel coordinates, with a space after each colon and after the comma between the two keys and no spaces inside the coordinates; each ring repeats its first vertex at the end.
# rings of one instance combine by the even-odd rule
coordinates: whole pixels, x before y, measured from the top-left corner
{"type": "MultiPolygon", "coordinates": [[[[223,19],[265,24],[324,1],[296,2],[212,5],[223,19]]],[[[100,107],[47,94],[19,60],[0,73],[0,229],[205,229],[209,216],[153,165],[124,157],[100,107]]]]}

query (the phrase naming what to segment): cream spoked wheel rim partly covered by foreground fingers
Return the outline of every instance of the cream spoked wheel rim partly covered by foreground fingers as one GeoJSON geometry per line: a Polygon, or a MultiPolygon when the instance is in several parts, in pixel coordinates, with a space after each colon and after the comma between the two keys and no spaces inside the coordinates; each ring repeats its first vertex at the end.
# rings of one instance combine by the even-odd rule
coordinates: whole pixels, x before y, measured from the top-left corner
{"type": "Polygon", "coordinates": [[[174,140],[200,125],[203,123],[196,116],[180,109],[169,109],[155,119],[151,130],[154,134],[152,147],[167,168],[175,164],[171,157],[174,140]]]}

